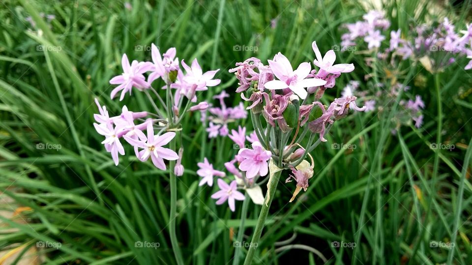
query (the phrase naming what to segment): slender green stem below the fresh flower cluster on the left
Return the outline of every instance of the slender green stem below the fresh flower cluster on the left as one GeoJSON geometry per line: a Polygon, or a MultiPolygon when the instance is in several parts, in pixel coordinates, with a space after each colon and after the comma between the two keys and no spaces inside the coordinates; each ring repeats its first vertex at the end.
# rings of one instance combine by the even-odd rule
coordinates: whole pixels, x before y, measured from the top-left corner
{"type": "MultiPolygon", "coordinates": [[[[169,143],[170,149],[176,151],[176,141],[172,140],[169,143]]],[[[171,185],[171,213],[169,216],[169,235],[171,237],[172,249],[174,250],[174,255],[176,256],[176,261],[178,265],[183,265],[182,253],[178,246],[177,235],[176,235],[176,219],[177,219],[177,177],[174,174],[174,166],[176,161],[169,161],[169,178],[171,185]]]]}

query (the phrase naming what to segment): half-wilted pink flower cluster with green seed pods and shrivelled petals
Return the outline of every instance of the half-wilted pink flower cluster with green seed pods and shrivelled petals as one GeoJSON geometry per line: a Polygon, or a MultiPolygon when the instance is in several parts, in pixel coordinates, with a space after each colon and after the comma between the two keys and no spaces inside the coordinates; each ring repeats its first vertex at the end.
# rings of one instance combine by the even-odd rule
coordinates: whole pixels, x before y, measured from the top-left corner
{"type": "MultiPolygon", "coordinates": [[[[257,138],[257,141],[252,142],[252,148],[240,149],[235,159],[225,165],[246,187],[257,186],[259,177],[273,174],[270,172],[272,164],[272,168],[292,170],[294,176],[287,181],[296,181],[295,198],[301,188],[306,190],[308,179],[313,175],[313,163],[307,167],[305,157],[320,142],[327,141],[324,136],[329,128],[335,120],[345,117],[350,108],[365,110],[356,106],[353,95],[334,99],[329,106],[319,101],[342,73],[354,70],[354,65],[335,64],[334,51],[322,55],[316,42],[312,43],[312,49],[313,65],[318,69],[312,68],[309,62],[302,62],[294,70],[289,59],[277,53],[267,60],[268,65],[251,57],[236,63],[236,68],[230,70],[238,79],[236,92],[249,102],[247,109],[255,130],[251,139],[257,138]],[[315,133],[320,136],[316,142],[315,133]],[[310,136],[303,147],[300,142],[306,135],[310,136]]],[[[230,138],[241,146],[244,134],[245,129],[239,128],[230,138]]]]}

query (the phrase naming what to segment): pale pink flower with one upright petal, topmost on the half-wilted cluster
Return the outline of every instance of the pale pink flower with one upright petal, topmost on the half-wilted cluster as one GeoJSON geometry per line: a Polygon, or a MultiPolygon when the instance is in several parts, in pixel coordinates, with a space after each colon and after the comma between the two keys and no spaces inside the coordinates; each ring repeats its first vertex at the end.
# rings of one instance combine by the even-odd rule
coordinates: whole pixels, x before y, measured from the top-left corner
{"type": "Polygon", "coordinates": [[[324,54],[324,56],[322,57],[320,50],[316,45],[316,41],[314,41],[311,46],[316,55],[316,59],[313,61],[313,64],[320,67],[320,72],[325,72],[318,73],[319,76],[327,76],[327,74],[349,73],[354,71],[354,64],[352,63],[334,64],[334,61],[336,60],[336,54],[333,50],[327,51],[326,54],[324,54]]]}

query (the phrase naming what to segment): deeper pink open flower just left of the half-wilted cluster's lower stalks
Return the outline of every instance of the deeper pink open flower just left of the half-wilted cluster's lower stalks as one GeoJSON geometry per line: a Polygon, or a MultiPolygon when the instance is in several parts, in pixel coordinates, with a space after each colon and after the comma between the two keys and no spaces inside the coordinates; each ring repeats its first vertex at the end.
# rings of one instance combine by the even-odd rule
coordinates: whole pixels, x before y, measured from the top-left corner
{"type": "Polygon", "coordinates": [[[246,171],[246,178],[252,179],[258,174],[267,175],[267,161],[271,157],[270,151],[264,150],[260,142],[252,143],[253,149],[243,148],[237,153],[243,161],[239,164],[239,169],[246,171]]]}

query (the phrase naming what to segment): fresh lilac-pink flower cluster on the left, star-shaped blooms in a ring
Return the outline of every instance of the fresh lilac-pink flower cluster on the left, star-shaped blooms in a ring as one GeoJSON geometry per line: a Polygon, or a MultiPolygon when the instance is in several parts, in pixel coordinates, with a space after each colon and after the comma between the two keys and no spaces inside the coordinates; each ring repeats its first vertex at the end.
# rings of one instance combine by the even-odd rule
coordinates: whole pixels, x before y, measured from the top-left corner
{"type": "Polygon", "coordinates": [[[111,84],[117,85],[110,94],[112,99],[120,93],[119,100],[122,101],[126,94],[131,95],[132,89],[136,88],[146,93],[156,113],[132,112],[127,106],[123,106],[120,115],[110,117],[107,108],[100,106],[98,100],[95,100],[99,114],[94,115],[97,123],[93,125],[99,134],[105,136],[102,144],[105,145],[105,150],[111,153],[116,165],[119,162],[118,154],[125,154],[120,142],[120,139],[124,139],[133,146],[139,160],[147,161],[150,158],[154,166],[161,170],[166,170],[164,159],[177,160],[173,170],[177,176],[183,174],[183,149],[180,149],[177,155],[176,150],[163,146],[176,137],[182,117],[187,111],[207,109],[206,102],[197,104],[196,92],[218,85],[220,80],[213,79],[219,69],[204,73],[197,59],[194,59],[190,66],[182,60],[180,68],[176,53],[175,48],[170,48],[161,55],[159,49],[152,44],[152,62],[133,60],[130,63],[128,56],[123,54],[122,74],[110,80],[111,84]],[[145,76],[146,74],[148,75],[145,76]],[[162,89],[166,90],[166,101],[152,87],[158,79],[162,79],[164,83],[162,89]],[[149,91],[153,92],[161,106],[158,107],[154,103],[155,100],[149,91]],[[185,101],[185,107],[181,110],[185,101]],[[144,119],[146,117],[148,118],[144,119]],[[145,129],[146,134],[143,132],[145,129]]]}

